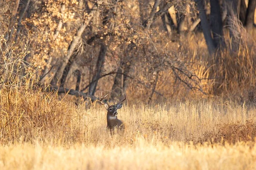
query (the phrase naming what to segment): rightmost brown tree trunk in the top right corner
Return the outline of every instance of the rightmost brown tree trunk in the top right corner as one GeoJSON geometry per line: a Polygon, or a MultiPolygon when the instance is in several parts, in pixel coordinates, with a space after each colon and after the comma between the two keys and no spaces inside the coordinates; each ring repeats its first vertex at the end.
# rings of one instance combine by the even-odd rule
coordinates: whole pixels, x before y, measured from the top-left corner
{"type": "Polygon", "coordinates": [[[248,8],[247,8],[247,11],[246,11],[245,27],[246,27],[247,31],[250,34],[253,31],[255,8],[256,8],[256,0],[249,0],[248,8]]]}

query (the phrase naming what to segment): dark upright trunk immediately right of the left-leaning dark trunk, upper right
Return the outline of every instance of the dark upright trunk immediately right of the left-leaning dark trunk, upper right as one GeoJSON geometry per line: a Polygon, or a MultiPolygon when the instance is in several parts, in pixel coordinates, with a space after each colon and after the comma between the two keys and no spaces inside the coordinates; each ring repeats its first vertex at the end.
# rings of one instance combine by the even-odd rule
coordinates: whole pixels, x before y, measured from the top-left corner
{"type": "Polygon", "coordinates": [[[210,22],[212,26],[212,35],[215,47],[224,47],[224,33],[221,20],[221,7],[219,0],[210,0],[211,13],[210,13],[210,22]]]}

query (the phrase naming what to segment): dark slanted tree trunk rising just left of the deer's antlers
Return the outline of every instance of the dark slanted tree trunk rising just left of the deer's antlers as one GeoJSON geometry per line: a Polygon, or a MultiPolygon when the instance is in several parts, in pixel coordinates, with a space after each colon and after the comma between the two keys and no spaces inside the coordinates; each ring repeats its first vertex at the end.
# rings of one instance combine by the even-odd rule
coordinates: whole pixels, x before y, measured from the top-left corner
{"type": "Polygon", "coordinates": [[[101,44],[100,51],[99,51],[99,57],[98,57],[98,60],[96,63],[96,68],[95,68],[93,79],[92,79],[93,83],[90,85],[89,90],[88,90],[89,95],[94,95],[94,93],[96,91],[98,79],[100,77],[100,74],[102,72],[102,68],[103,68],[103,65],[105,62],[106,52],[107,52],[107,46],[105,44],[101,44]]]}

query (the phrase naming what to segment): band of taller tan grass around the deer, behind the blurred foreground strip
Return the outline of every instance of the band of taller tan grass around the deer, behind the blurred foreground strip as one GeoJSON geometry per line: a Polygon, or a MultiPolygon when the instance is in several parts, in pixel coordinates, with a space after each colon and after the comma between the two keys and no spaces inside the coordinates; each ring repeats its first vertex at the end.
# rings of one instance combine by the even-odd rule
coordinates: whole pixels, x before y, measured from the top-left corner
{"type": "MultiPolygon", "coordinates": [[[[125,136],[111,138],[106,131],[106,110],[98,103],[90,108],[84,104],[77,108],[69,96],[59,100],[53,94],[44,95],[38,90],[2,89],[0,142],[6,144],[22,140],[33,143],[38,139],[52,144],[79,142],[115,146],[133,144],[137,136],[156,143],[197,142],[214,128],[226,128],[220,125],[247,125],[256,129],[253,126],[256,108],[245,102],[222,99],[156,105],[133,105],[130,102],[128,100],[118,114],[127,126],[125,136]],[[246,124],[248,120],[250,124],[246,124]]],[[[248,134],[252,139],[253,130],[248,134]]]]}

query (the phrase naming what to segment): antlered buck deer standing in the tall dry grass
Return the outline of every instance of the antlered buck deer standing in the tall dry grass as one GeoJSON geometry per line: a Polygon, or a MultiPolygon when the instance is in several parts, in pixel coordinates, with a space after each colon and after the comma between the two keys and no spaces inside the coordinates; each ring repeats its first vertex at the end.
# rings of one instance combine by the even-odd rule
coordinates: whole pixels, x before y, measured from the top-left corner
{"type": "Polygon", "coordinates": [[[122,108],[122,102],[125,101],[126,95],[122,100],[117,102],[115,105],[111,105],[111,106],[108,105],[108,103],[102,102],[102,100],[106,96],[108,96],[108,94],[106,94],[104,97],[100,97],[101,99],[99,100],[99,102],[102,105],[104,105],[108,111],[108,113],[107,113],[107,129],[109,129],[111,132],[111,135],[113,135],[113,131],[115,128],[117,128],[118,131],[123,131],[125,129],[124,122],[120,119],[117,119],[116,115],[117,115],[117,109],[122,108]]]}

